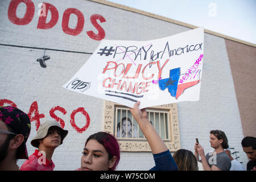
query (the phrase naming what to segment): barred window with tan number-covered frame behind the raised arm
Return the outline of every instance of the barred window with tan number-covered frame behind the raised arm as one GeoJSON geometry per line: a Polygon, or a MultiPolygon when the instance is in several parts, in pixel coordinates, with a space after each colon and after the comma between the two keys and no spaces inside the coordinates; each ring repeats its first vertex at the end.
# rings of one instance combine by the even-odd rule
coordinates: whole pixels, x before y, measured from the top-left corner
{"type": "MultiPolygon", "coordinates": [[[[148,119],[170,151],[180,149],[177,105],[146,108],[148,119]]],[[[126,106],[105,101],[104,131],[113,134],[121,151],[151,151],[151,148],[126,106]]]]}

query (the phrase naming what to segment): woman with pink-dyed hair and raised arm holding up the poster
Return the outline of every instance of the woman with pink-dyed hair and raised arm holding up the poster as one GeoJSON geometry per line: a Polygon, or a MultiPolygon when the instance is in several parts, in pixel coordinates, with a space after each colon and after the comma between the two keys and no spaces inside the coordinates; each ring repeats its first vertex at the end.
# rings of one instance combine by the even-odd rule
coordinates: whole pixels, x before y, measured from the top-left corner
{"type": "MultiPolygon", "coordinates": [[[[139,109],[139,104],[140,102],[135,103],[134,107],[130,108],[130,111],[138,122],[148,144],[150,144],[155,160],[155,167],[150,170],[177,170],[171,152],[148,120],[146,109],[139,109]]],[[[114,171],[120,159],[117,139],[105,132],[90,135],[85,142],[82,154],[84,155],[82,155],[81,168],[79,169],[81,171],[114,171]]]]}

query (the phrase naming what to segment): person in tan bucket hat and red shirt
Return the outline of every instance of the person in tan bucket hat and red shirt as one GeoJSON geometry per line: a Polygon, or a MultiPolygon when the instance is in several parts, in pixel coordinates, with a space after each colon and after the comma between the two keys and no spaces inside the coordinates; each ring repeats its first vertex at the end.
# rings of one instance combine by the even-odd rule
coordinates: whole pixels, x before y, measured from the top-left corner
{"type": "Polygon", "coordinates": [[[55,164],[52,155],[55,148],[63,143],[68,131],[63,130],[56,121],[46,121],[39,126],[36,136],[31,140],[32,146],[38,148],[28,160],[26,160],[21,171],[53,171],[55,164]]]}

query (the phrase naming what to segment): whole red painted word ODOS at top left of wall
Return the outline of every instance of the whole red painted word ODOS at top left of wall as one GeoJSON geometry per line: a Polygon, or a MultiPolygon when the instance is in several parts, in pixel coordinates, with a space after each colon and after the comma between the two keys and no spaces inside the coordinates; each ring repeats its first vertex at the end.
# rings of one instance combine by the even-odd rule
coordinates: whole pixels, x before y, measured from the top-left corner
{"type": "MultiPolygon", "coordinates": [[[[50,3],[43,2],[43,8],[45,8],[44,12],[46,15],[41,15],[41,14],[39,15],[37,28],[50,29],[57,24],[59,20],[59,13],[57,8],[51,5],[50,3]],[[51,20],[49,20],[49,22],[46,23],[49,11],[51,12],[51,20]]],[[[35,15],[35,5],[31,0],[12,0],[9,4],[8,18],[10,22],[14,24],[18,24],[18,25],[28,24],[32,21],[34,15],[35,15]],[[27,6],[26,13],[23,18],[18,18],[16,15],[16,10],[18,5],[22,2],[25,3],[27,6]]],[[[97,20],[100,20],[101,23],[106,22],[106,19],[102,15],[93,14],[92,16],[90,16],[90,22],[97,29],[98,33],[95,33],[93,31],[87,31],[86,34],[93,40],[102,40],[105,38],[105,31],[97,22],[97,20]]],[[[77,10],[75,8],[69,8],[65,10],[63,13],[61,27],[65,34],[77,36],[81,34],[84,28],[84,22],[85,22],[84,15],[80,10],[77,10]],[[75,28],[70,28],[68,26],[71,14],[75,14],[77,16],[77,24],[75,28]]]]}

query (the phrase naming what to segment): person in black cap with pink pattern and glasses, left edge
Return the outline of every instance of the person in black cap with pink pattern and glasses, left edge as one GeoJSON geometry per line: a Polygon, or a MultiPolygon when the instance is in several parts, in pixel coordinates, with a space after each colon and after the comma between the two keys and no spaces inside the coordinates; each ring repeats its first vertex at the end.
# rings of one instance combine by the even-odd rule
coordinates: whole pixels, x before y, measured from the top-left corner
{"type": "Polygon", "coordinates": [[[17,159],[28,159],[30,118],[13,106],[0,106],[0,170],[19,170],[17,159]]]}

